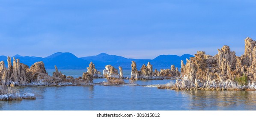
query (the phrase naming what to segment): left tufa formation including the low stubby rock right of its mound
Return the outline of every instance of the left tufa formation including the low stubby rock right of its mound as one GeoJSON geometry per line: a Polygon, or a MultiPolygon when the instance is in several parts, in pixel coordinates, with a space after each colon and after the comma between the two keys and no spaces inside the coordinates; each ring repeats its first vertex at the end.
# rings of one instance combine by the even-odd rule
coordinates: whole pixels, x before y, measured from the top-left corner
{"type": "MultiPolygon", "coordinates": [[[[0,62],[0,78],[1,84],[7,86],[16,85],[57,85],[61,82],[63,75],[57,72],[60,77],[51,77],[45,70],[43,62],[36,62],[30,68],[20,63],[19,59],[13,57],[13,65],[11,57],[8,57],[8,69],[5,68],[4,62],[0,62]]],[[[57,67],[56,67],[57,68],[57,67]]]]}

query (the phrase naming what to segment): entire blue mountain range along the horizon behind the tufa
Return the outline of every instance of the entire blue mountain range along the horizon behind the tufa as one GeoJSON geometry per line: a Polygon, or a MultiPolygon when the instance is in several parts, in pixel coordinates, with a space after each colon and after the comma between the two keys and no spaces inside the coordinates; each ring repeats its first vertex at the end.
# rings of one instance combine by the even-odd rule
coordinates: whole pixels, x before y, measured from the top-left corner
{"type": "MultiPolygon", "coordinates": [[[[160,55],[155,59],[129,59],[116,55],[109,55],[106,53],[101,53],[96,56],[89,57],[76,57],[71,53],[61,53],[57,52],[48,57],[29,57],[29,56],[21,56],[15,55],[13,56],[15,59],[20,59],[21,63],[24,63],[28,66],[31,66],[35,62],[43,61],[45,63],[46,69],[54,69],[54,65],[57,65],[59,69],[86,69],[89,66],[90,62],[95,64],[96,69],[104,69],[105,65],[113,65],[115,68],[121,66],[124,69],[131,68],[131,61],[135,61],[137,63],[137,68],[140,69],[143,64],[147,65],[150,62],[153,65],[153,68],[160,70],[161,68],[166,69],[170,68],[171,65],[175,65],[180,68],[181,60],[186,63],[186,59],[190,59],[190,57],[194,57],[190,54],[184,54],[182,56],[177,55],[160,55]]],[[[12,58],[13,58],[12,57],[12,58]]],[[[13,60],[13,59],[12,59],[13,60]]],[[[0,56],[0,61],[4,61],[7,67],[7,57],[0,56]]]]}

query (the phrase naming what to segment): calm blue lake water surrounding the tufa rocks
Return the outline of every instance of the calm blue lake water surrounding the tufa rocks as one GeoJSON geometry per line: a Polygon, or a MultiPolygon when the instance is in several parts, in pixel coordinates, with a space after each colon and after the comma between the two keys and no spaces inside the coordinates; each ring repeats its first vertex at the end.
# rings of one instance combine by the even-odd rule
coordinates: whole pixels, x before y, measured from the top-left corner
{"type": "MultiPolygon", "coordinates": [[[[62,72],[73,74],[75,77],[81,76],[83,71],[62,72]]],[[[128,75],[127,72],[129,71],[124,71],[125,75],[128,75]]],[[[94,79],[93,82],[104,80],[106,79],[94,79]]],[[[167,82],[175,80],[134,83],[152,85],[167,82]]],[[[35,94],[36,100],[1,101],[0,110],[256,110],[256,91],[174,91],[145,86],[102,85],[35,86],[15,89],[21,94],[35,94]]]]}

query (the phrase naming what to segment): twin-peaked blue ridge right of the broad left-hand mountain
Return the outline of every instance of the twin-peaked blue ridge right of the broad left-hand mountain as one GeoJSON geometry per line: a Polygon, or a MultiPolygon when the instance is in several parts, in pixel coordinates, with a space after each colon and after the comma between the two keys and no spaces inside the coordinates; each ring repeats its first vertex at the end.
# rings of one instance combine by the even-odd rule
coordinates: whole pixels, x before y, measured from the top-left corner
{"type": "Polygon", "coordinates": [[[143,64],[147,65],[150,62],[153,65],[153,68],[161,69],[161,68],[170,68],[171,65],[175,65],[180,68],[181,60],[186,63],[186,59],[190,59],[190,57],[194,57],[190,54],[184,54],[182,56],[177,55],[160,55],[155,59],[128,59],[121,56],[109,55],[106,53],[101,53],[96,56],[90,57],[82,57],[87,61],[92,61],[95,64],[96,68],[104,68],[105,65],[113,65],[118,68],[121,66],[122,68],[131,68],[131,61],[135,61],[137,63],[137,68],[140,69],[143,64]]]}

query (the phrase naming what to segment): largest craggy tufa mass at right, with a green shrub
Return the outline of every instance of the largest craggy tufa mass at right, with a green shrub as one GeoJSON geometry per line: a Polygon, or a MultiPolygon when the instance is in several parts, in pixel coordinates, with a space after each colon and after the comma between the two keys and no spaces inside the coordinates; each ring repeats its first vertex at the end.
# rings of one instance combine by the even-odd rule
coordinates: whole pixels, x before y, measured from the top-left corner
{"type": "Polygon", "coordinates": [[[247,37],[241,57],[224,45],[215,56],[198,51],[195,57],[181,62],[182,79],[172,88],[178,90],[255,90],[256,89],[256,41],[247,37]],[[241,83],[243,82],[243,83],[241,83]]]}

